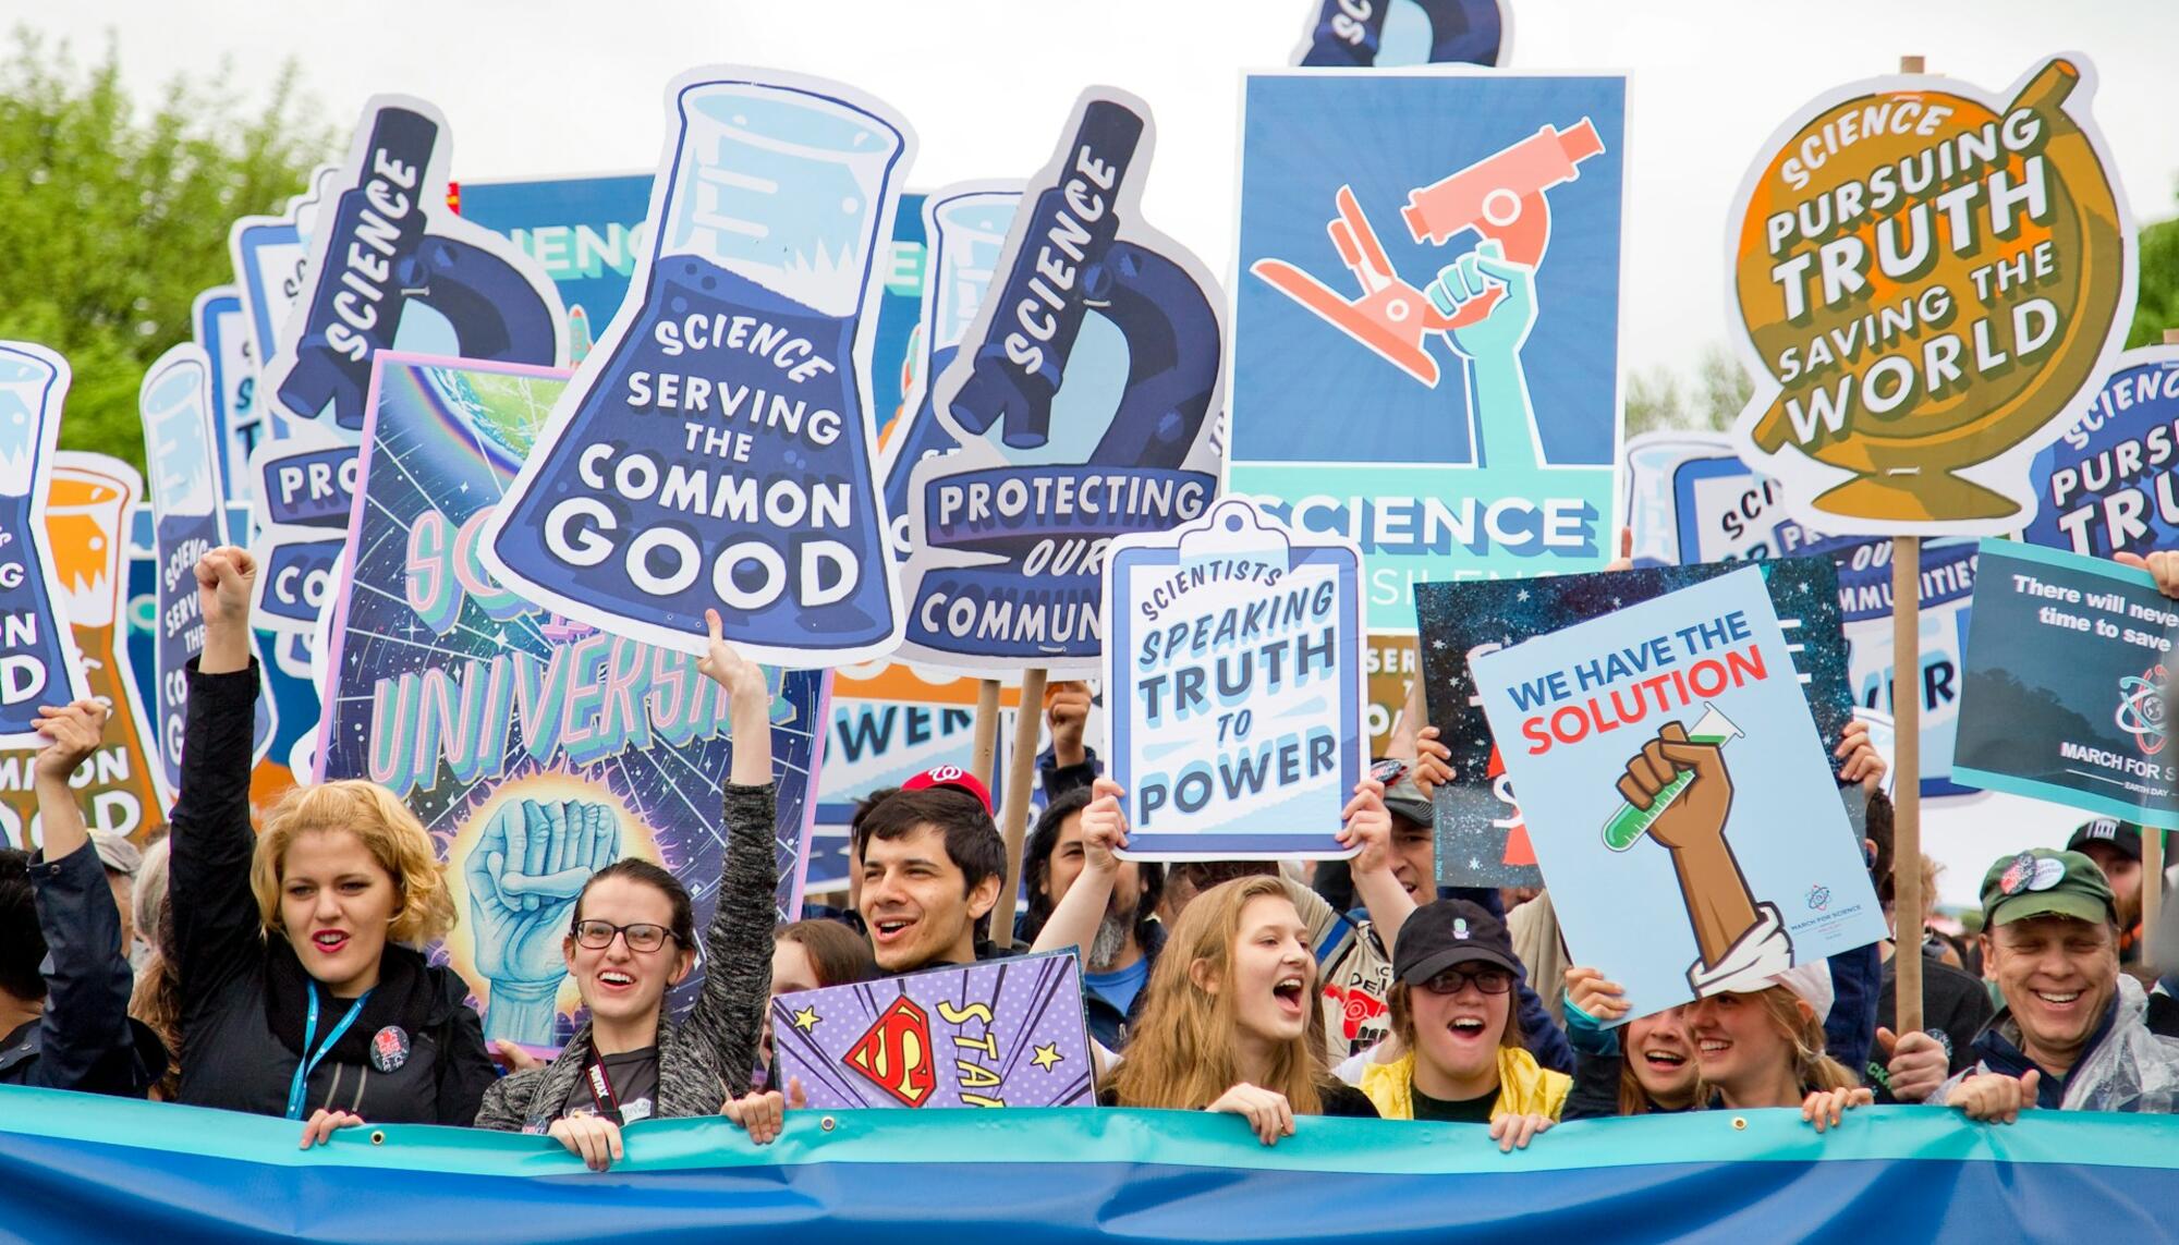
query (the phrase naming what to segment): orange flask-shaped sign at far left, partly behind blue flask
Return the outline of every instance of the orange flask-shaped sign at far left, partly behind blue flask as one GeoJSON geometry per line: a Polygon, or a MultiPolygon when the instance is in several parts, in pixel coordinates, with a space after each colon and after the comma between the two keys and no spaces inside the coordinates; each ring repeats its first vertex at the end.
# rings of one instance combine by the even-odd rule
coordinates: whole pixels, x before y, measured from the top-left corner
{"type": "MultiPolygon", "coordinates": [[[[98,751],[76,768],[68,786],[76,790],[83,821],[92,829],[111,829],[148,845],[166,834],[170,792],[161,790],[166,775],[153,760],[150,716],[137,694],[120,618],[122,548],[129,511],[142,494],[144,481],[120,459],[70,451],[52,455],[37,548],[50,557],[59,583],[57,601],[68,618],[72,662],[83,668],[83,694],[111,710],[98,751]]],[[[44,842],[35,831],[35,744],[0,753],[0,838],[13,847],[44,842]]]]}

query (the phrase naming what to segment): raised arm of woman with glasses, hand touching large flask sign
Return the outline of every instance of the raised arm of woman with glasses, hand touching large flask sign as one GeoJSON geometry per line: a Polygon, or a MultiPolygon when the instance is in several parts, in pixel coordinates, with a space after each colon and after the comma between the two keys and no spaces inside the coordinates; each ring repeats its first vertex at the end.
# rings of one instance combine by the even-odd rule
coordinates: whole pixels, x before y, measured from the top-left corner
{"type": "Polygon", "coordinates": [[[689,1025],[691,1053],[728,1088],[728,1097],[750,1093],[756,1049],[771,1001],[771,897],[778,888],[774,821],[778,788],[771,781],[771,688],[763,666],[745,660],[719,631],[719,612],[706,609],[710,651],[697,668],[728,694],[734,731],[734,764],[721,786],[726,816],[726,862],[719,873],[719,908],[704,929],[704,988],[689,1025]]]}

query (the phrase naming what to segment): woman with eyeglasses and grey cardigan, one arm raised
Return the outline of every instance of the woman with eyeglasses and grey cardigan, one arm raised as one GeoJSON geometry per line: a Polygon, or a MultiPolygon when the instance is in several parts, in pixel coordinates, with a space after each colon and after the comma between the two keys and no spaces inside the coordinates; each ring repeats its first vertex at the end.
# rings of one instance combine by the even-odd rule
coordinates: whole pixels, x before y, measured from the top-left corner
{"type": "Polygon", "coordinates": [[[710,653],[697,668],[730,697],[734,766],[721,788],[730,834],[695,1008],[682,1021],[665,1014],[667,990],[697,960],[689,890],[647,860],[608,864],[582,888],[562,940],[591,1019],[553,1062],[497,1082],[477,1110],[477,1127],[551,1134],[593,1171],[623,1156],[623,1125],[719,1114],[728,1095],[750,1095],[756,1067],[771,993],[771,690],[719,638],[717,612],[708,622],[710,653]]]}

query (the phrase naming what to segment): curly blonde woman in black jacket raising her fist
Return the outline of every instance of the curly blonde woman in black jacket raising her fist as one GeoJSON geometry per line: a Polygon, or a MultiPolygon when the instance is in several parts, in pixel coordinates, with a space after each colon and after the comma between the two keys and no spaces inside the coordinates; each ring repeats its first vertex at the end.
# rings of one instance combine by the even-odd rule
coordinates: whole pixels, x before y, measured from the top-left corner
{"type": "Polygon", "coordinates": [[[251,829],[255,579],[233,546],[196,564],[205,651],[163,947],[181,986],[181,1101],[285,1114],[303,1147],[366,1119],[466,1125],[492,1062],[468,988],[416,949],[455,921],[429,834],[366,781],[296,788],[251,829]]]}

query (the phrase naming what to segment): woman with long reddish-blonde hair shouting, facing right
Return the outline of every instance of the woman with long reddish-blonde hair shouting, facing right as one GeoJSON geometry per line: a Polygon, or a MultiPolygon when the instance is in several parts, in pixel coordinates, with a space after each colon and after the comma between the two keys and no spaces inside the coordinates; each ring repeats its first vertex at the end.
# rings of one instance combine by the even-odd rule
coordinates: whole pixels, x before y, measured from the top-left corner
{"type": "Polygon", "coordinates": [[[1151,971],[1109,1106],[1244,1117],[1257,1141],[1297,1114],[1375,1117],[1325,1067],[1316,956],[1277,877],[1240,877],[1181,912],[1151,971]]]}

